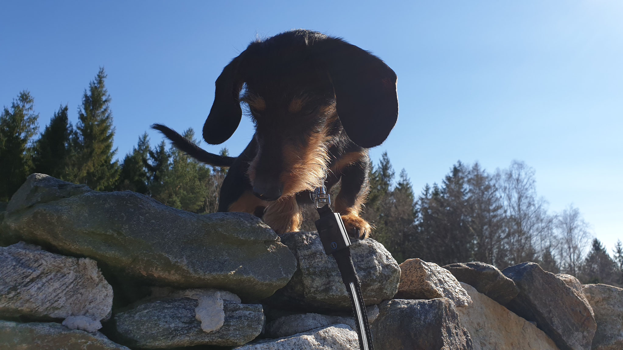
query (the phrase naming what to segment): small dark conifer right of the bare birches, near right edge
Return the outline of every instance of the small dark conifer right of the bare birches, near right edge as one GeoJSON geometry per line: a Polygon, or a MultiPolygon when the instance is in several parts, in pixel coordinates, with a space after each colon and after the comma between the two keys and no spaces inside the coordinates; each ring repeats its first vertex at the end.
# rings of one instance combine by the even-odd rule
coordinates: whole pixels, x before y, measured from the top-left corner
{"type": "Polygon", "coordinates": [[[591,251],[586,255],[581,268],[583,283],[611,284],[616,280],[616,264],[598,239],[592,240],[591,251]]]}

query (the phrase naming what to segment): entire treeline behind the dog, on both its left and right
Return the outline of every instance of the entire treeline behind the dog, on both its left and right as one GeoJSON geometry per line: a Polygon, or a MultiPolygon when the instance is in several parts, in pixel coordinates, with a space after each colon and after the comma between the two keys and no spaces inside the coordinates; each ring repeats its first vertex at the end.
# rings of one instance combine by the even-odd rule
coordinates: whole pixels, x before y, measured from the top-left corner
{"type": "MultiPolygon", "coordinates": [[[[27,91],[4,107],[0,202],[8,201],[29,174],[45,173],[97,191],[130,190],[179,209],[215,212],[225,169],[199,163],[164,141],[151,146],[146,133],[123,161],[115,160],[106,77],[100,69],[88,84],[75,126],[68,106],[61,105],[39,135],[39,114],[27,91]]],[[[184,137],[197,143],[192,129],[184,137]]],[[[370,173],[364,217],[376,226],[372,237],[399,262],[419,257],[439,265],[480,261],[505,268],[531,261],[584,283],[623,285],[621,242],[610,255],[592,239],[576,207],[549,213],[525,163],[514,161],[488,173],[478,163],[459,162],[440,184],[427,185],[417,196],[404,169],[395,177],[384,153],[370,173]]],[[[313,230],[315,210],[306,208],[304,215],[303,229],[313,230]]]]}

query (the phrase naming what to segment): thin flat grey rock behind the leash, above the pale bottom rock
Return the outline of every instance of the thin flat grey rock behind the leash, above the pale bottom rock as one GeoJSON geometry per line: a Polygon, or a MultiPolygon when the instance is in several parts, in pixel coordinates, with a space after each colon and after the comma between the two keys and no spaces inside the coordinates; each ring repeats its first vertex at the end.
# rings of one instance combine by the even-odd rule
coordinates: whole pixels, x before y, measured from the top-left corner
{"type": "MultiPolygon", "coordinates": [[[[368,322],[372,324],[379,316],[378,306],[368,306],[367,313],[368,322]]],[[[266,324],[264,335],[267,338],[282,338],[292,334],[307,332],[311,329],[330,326],[331,324],[346,324],[351,329],[356,329],[353,317],[304,313],[282,316],[271,321],[266,324]]]]}

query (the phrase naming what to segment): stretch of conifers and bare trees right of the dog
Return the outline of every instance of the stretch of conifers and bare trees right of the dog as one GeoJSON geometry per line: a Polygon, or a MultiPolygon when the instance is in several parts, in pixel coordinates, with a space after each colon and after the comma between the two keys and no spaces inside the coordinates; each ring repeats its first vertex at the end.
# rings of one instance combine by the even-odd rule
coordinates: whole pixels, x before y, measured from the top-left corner
{"type": "Polygon", "coordinates": [[[592,239],[578,208],[549,213],[536,194],[535,171],[523,162],[488,173],[478,163],[459,161],[440,184],[425,186],[417,197],[404,169],[394,184],[387,153],[370,175],[364,217],[376,225],[374,239],[399,262],[418,257],[439,265],[479,261],[498,268],[537,262],[584,283],[623,285],[621,241],[611,256],[592,239]]]}

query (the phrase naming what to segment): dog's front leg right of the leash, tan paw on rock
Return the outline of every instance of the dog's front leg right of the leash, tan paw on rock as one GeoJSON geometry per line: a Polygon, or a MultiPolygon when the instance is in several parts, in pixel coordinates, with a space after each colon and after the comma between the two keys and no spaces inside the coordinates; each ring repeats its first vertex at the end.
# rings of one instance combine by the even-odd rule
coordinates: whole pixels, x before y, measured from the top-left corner
{"type": "Polygon", "coordinates": [[[348,234],[359,239],[368,238],[372,230],[371,225],[359,216],[369,192],[368,168],[369,161],[361,159],[341,171],[340,192],[334,203],[348,234]]]}

